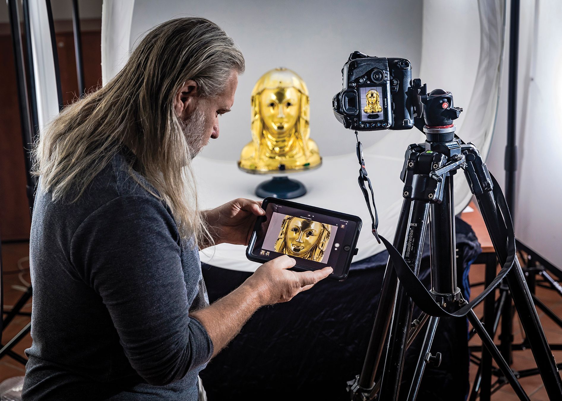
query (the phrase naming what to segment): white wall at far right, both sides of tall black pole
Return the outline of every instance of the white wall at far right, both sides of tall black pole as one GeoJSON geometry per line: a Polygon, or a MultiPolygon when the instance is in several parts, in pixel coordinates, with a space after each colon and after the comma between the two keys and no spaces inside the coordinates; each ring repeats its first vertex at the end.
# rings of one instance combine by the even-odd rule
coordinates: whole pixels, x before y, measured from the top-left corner
{"type": "MultiPolygon", "coordinates": [[[[562,2],[521,3],[516,135],[515,236],[562,268],[562,2]]],[[[507,26],[509,26],[509,15],[507,26]]],[[[507,32],[509,40],[509,30],[507,32]]],[[[496,130],[487,164],[505,189],[507,57],[496,130]]]]}

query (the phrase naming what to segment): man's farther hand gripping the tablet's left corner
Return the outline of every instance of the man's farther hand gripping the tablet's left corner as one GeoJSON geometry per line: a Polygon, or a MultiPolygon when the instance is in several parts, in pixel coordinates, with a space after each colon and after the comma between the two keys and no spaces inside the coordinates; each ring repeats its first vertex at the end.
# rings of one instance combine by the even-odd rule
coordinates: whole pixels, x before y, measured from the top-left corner
{"type": "MultiPolygon", "coordinates": [[[[216,244],[248,245],[257,216],[265,215],[261,202],[238,198],[201,212],[216,244]]],[[[200,248],[210,244],[201,244],[200,248]]]]}

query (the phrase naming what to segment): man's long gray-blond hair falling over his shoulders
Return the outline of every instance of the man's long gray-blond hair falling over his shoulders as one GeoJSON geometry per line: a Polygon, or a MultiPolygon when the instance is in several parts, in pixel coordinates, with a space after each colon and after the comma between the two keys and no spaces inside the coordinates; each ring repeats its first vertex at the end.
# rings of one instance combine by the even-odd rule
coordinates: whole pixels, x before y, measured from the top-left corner
{"type": "Polygon", "coordinates": [[[192,152],[174,97],[190,79],[201,96],[213,97],[224,90],[233,70],[244,71],[244,57],[213,22],[185,17],[156,26],[115,78],[66,107],[42,131],[34,147],[34,174],[53,201],[76,201],[127,146],[157,191],[151,192],[173,211],[180,233],[194,235],[196,244],[209,242],[189,162],[184,168],[192,152]]]}

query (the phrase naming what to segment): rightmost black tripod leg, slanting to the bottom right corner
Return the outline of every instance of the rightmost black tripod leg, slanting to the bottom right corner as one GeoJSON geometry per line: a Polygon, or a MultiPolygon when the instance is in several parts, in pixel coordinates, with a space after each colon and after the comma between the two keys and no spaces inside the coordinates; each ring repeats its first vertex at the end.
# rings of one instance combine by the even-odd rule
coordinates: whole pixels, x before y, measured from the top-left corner
{"type": "MultiPolygon", "coordinates": [[[[491,192],[476,195],[476,198],[482,211],[484,222],[486,222],[488,233],[490,233],[490,238],[496,249],[497,257],[500,259],[500,262],[504,262],[507,259],[507,252],[503,243],[503,239],[506,238],[505,225],[497,214],[496,202],[491,192]]],[[[519,319],[531,345],[533,357],[537,362],[542,381],[545,384],[546,393],[550,399],[562,399],[562,381],[560,380],[558,367],[556,367],[545,332],[542,330],[541,321],[538,318],[537,310],[531,297],[531,291],[529,291],[518,259],[515,259],[514,266],[506,278],[513,296],[515,308],[519,314],[519,319]]]]}

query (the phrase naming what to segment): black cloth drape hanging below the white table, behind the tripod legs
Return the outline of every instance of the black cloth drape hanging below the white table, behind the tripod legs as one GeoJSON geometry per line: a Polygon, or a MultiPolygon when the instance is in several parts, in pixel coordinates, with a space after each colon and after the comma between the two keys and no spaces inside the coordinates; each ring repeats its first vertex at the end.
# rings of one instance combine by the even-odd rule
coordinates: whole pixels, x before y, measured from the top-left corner
{"type": "MultiPolygon", "coordinates": [[[[472,228],[456,218],[457,275],[469,299],[470,263],[481,252],[472,228]]],[[[210,401],[345,400],[346,381],[361,371],[388,253],[351,265],[343,282],[321,281],[291,302],[256,312],[241,333],[200,373],[210,401]]],[[[240,285],[250,273],[203,265],[211,303],[240,285]]],[[[426,238],[420,278],[429,287],[426,238]]],[[[415,308],[414,316],[419,315],[415,308]]],[[[407,350],[401,398],[418,360],[425,328],[407,350]]],[[[468,322],[442,318],[432,353],[441,352],[438,368],[428,366],[418,400],[465,400],[468,393],[468,322]]]]}

